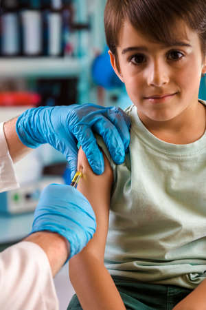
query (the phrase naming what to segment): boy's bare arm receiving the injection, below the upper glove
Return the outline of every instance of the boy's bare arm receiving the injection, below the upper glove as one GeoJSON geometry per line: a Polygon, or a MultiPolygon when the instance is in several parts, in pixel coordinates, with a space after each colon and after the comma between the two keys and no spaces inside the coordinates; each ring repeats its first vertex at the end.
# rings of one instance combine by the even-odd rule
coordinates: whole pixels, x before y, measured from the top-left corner
{"type": "Polygon", "coordinates": [[[126,309],[115,283],[104,267],[104,249],[108,231],[108,212],[113,172],[104,156],[104,174],[93,174],[82,149],[78,156],[78,169],[83,178],[78,190],[91,203],[97,220],[93,239],[80,254],[69,261],[69,276],[84,310],[126,309]]]}

